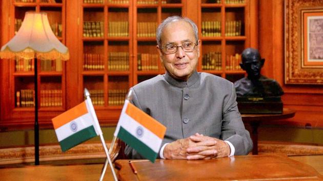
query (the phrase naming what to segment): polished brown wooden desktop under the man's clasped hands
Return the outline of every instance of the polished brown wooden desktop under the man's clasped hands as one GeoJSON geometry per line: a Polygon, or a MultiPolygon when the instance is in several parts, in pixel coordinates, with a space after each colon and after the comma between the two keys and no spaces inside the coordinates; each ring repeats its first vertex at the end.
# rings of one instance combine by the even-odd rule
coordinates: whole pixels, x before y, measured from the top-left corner
{"type": "Polygon", "coordinates": [[[214,160],[117,160],[120,180],[323,180],[323,176],[306,164],[287,156],[247,155],[214,160]]]}

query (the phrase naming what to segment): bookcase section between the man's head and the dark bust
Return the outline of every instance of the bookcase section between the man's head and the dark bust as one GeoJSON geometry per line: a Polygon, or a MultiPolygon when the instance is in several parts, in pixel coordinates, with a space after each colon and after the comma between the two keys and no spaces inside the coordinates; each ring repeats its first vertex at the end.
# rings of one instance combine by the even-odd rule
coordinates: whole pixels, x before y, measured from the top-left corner
{"type": "Polygon", "coordinates": [[[200,0],[199,36],[201,39],[200,71],[226,78],[232,82],[243,78],[241,52],[250,43],[249,19],[251,1],[200,0]]]}

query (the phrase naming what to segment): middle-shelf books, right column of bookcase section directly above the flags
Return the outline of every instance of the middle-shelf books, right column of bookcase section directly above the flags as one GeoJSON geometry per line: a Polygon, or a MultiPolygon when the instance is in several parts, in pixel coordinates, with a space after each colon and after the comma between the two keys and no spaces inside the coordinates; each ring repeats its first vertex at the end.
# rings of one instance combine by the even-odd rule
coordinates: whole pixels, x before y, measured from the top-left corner
{"type": "Polygon", "coordinates": [[[109,71],[128,71],[129,52],[109,52],[109,71]]]}

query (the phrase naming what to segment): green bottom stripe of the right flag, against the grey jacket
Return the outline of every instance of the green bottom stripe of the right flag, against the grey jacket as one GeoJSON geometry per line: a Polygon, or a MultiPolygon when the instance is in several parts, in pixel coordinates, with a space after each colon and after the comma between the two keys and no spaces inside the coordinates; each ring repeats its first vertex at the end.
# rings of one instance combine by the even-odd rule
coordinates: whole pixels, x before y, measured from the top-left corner
{"type": "Polygon", "coordinates": [[[135,149],[140,155],[144,156],[146,159],[150,160],[152,163],[155,162],[157,153],[149,148],[146,144],[138,140],[132,134],[130,134],[126,129],[120,126],[118,138],[122,139],[126,144],[135,149]]]}

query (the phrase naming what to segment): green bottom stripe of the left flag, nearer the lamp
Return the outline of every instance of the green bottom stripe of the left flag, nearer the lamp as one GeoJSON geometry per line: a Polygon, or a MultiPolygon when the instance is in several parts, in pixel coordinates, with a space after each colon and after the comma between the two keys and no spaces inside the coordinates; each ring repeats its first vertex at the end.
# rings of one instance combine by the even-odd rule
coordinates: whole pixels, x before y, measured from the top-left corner
{"type": "Polygon", "coordinates": [[[83,143],[93,137],[96,137],[96,132],[94,130],[93,125],[89,126],[85,129],[75,132],[74,134],[70,135],[66,139],[59,142],[60,148],[62,151],[66,151],[80,143],[83,143]]]}

